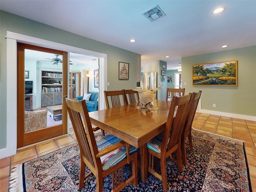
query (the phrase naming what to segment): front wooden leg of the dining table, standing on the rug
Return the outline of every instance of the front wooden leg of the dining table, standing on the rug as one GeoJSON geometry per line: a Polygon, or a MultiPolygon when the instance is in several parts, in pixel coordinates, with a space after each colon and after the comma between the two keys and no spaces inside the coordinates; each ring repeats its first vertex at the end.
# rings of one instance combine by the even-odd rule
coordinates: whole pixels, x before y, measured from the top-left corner
{"type": "Polygon", "coordinates": [[[148,179],[148,147],[147,143],[140,148],[140,171],[141,180],[145,182],[148,179]]]}

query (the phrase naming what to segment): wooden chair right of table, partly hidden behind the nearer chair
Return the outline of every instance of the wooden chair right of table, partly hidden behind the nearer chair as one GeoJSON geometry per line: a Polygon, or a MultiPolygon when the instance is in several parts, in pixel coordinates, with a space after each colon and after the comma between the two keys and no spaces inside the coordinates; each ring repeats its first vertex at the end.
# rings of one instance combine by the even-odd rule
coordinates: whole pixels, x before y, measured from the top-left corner
{"type": "Polygon", "coordinates": [[[202,93],[202,91],[199,91],[197,93],[195,93],[195,92],[190,93],[191,98],[190,98],[190,103],[189,103],[189,107],[188,107],[188,114],[186,117],[186,121],[185,121],[184,128],[182,131],[182,136],[181,136],[182,160],[185,165],[188,164],[187,154],[186,154],[186,138],[188,137],[189,148],[190,148],[190,151],[192,152],[193,151],[192,135],[191,135],[192,122],[194,120],[196,108],[197,108],[201,93],[202,93]]]}

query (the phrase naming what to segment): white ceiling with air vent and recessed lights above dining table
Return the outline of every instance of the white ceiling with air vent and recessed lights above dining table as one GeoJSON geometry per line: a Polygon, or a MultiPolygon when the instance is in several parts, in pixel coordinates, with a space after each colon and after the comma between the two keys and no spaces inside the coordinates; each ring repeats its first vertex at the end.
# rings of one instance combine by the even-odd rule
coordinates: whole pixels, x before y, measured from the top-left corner
{"type": "Polygon", "coordinates": [[[0,9],[135,52],[142,62],[165,61],[167,70],[182,57],[256,45],[256,0],[1,0],[0,9]],[[150,22],[142,12],[156,5],[166,16],[150,22]],[[220,6],[226,10],[212,14],[220,6]]]}

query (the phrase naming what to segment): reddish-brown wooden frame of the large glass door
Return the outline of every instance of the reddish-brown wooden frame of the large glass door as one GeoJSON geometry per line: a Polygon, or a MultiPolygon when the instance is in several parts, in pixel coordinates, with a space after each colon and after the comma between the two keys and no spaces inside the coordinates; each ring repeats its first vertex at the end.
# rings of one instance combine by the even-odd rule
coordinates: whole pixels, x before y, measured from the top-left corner
{"type": "MultiPolygon", "coordinates": [[[[34,141],[42,141],[49,139],[47,134],[50,135],[50,138],[60,136],[67,133],[67,111],[65,106],[62,107],[62,124],[58,126],[47,127],[42,130],[36,130],[28,133],[24,133],[24,100],[25,100],[25,91],[24,91],[24,50],[37,50],[42,52],[50,52],[54,54],[62,55],[62,74],[63,77],[68,77],[68,52],[54,50],[49,48],[38,47],[29,44],[17,43],[17,148],[35,143],[34,141]],[[29,141],[29,139],[34,141],[29,141]]],[[[62,86],[62,95],[65,96],[68,93],[68,80],[63,78],[62,86]]],[[[63,100],[63,99],[62,99],[63,100]]]]}

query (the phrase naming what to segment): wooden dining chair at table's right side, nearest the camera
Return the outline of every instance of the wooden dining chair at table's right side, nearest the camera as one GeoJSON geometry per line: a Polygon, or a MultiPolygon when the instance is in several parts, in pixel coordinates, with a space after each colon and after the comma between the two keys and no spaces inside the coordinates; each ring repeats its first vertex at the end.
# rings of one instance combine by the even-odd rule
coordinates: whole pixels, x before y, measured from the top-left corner
{"type": "Polygon", "coordinates": [[[177,156],[177,160],[174,160],[174,162],[178,164],[178,170],[182,172],[180,142],[190,97],[190,94],[180,97],[173,96],[164,132],[158,134],[147,143],[149,154],[148,172],[162,180],[164,191],[167,191],[166,158],[170,157],[174,160],[172,158],[173,152],[176,152],[177,156]],[[154,157],[160,159],[161,174],[154,170],[154,157]]]}

